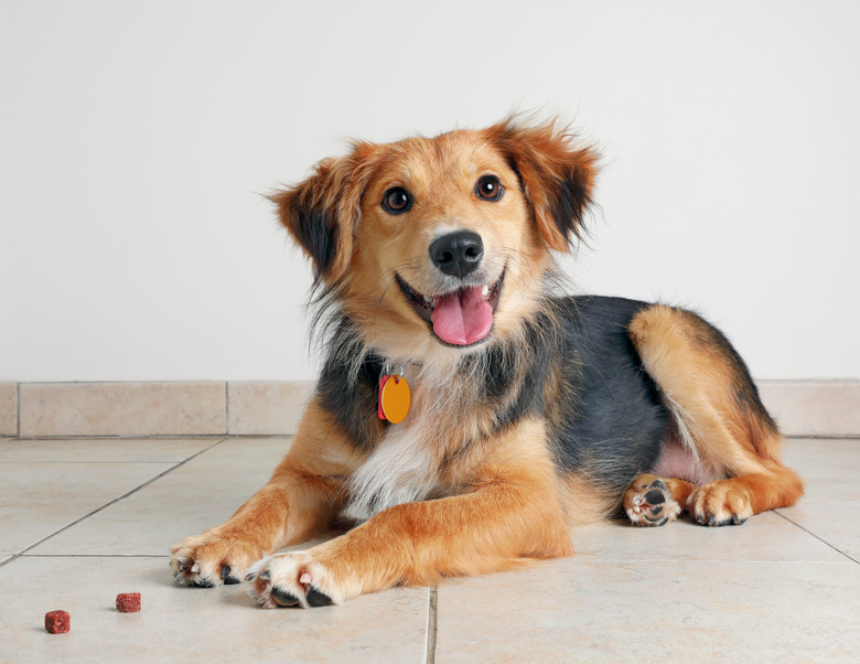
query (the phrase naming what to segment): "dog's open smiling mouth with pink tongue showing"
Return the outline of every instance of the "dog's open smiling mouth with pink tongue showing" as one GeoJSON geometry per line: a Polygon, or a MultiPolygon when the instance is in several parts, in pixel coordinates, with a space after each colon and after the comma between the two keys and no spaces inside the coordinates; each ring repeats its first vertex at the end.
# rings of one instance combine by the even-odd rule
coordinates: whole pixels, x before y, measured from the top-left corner
{"type": "Polygon", "coordinates": [[[418,292],[399,275],[397,285],[418,317],[427,321],[433,334],[452,346],[477,343],[493,329],[505,274],[495,283],[464,286],[451,292],[428,296],[418,292]]]}

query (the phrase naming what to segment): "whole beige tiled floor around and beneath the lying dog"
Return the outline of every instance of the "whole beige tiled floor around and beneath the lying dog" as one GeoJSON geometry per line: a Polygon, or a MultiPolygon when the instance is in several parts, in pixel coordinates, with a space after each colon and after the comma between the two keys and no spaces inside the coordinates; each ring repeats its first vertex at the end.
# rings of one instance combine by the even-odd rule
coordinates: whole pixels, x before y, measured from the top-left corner
{"type": "Polygon", "coordinates": [[[860,440],[791,440],[807,481],[741,527],[578,528],[519,572],[264,611],[173,586],[166,551],[269,476],[284,438],[0,441],[0,661],[860,658],[860,440]],[[141,592],[118,613],[118,592],[141,592]],[[46,611],[72,631],[47,634],[46,611]]]}

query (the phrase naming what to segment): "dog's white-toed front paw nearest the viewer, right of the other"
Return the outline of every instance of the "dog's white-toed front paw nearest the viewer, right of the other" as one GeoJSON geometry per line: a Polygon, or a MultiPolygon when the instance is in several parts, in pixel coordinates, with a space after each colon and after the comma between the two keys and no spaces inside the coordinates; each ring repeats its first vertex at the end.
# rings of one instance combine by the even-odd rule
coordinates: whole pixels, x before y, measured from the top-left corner
{"type": "Polygon", "coordinates": [[[327,607],[343,602],[331,574],[308,551],[276,554],[255,563],[246,581],[250,593],[264,609],[278,607],[327,607]]]}

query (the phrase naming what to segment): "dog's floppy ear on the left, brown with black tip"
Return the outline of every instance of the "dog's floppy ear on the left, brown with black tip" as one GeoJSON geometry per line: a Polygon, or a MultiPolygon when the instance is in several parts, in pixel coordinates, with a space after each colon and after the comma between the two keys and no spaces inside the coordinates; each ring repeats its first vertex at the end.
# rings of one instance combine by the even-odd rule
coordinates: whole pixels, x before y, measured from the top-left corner
{"type": "Polygon", "coordinates": [[[314,285],[335,283],[350,265],[369,178],[368,152],[368,144],[356,144],[348,156],[321,161],[308,180],[270,196],[281,224],[312,260],[314,285]]]}

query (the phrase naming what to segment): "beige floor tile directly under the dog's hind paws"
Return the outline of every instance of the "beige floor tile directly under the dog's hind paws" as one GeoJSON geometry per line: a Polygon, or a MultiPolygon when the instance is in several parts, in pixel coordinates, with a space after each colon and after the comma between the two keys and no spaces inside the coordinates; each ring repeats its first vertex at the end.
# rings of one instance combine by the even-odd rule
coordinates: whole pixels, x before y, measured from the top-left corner
{"type": "Polygon", "coordinates": [[[639,528],[620,518],[578,526],[572,537],[579,557],[600,560],[845,561],[831,547],[773,512],[721,528],[700,526],[688,516],[659,528],[639,528]]]}

